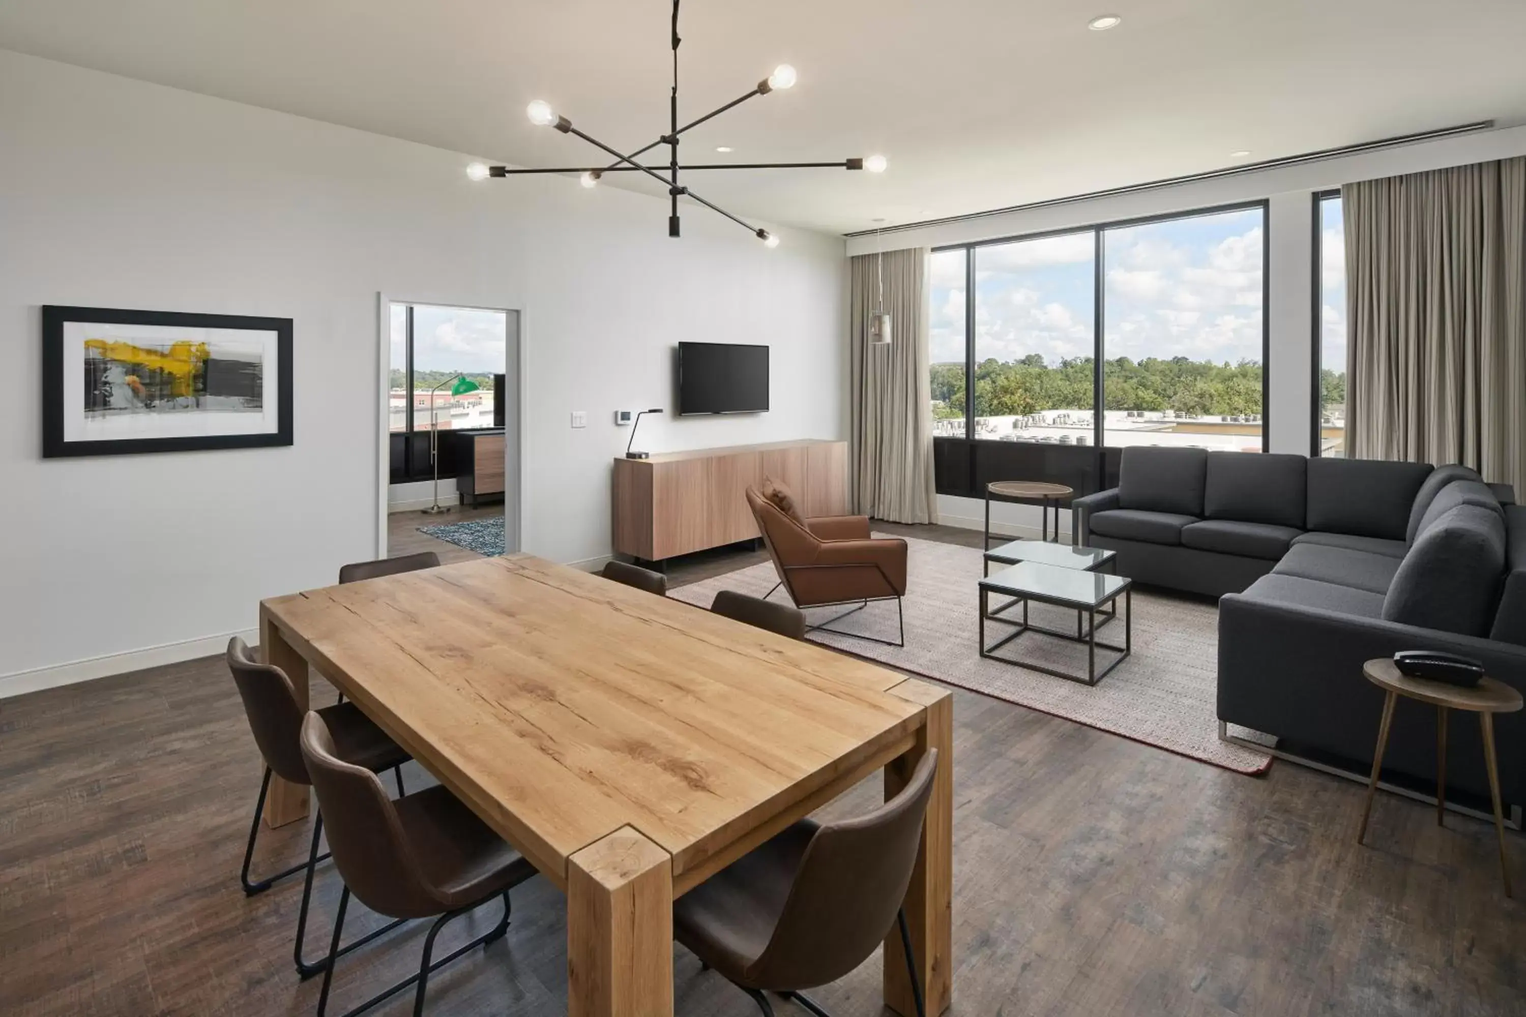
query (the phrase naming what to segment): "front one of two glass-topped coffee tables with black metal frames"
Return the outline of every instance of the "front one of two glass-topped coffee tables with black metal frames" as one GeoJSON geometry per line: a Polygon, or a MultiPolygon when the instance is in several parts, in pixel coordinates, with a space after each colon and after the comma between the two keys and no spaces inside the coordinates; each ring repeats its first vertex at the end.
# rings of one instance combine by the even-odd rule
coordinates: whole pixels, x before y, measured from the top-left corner
{"type": "MultiPolygon", "coordinates": [[[[1079,682],[1082,685],[1096,685],[1103,677],[1108,675],[1116,666],[1128,660],[1129,654],[1134,651],[1134,584],[1126,576],[1108,575],[1103,572],[1087,572],[1082,569],[1065,569],[1061,566],[1044,564],[1039,561],[1022,561],[1019,564],[1003,569],[1001,572],[986,576],[980,581],[980,656],[990,657],[992,660],[1001,660],[1003,663],[1012,663],[1019,668],[1027,668],[1030,671],[1039,671],[1042,674],[1051,674],[1056,679],[1067,679],[1070,682],[1079,682]],[[990,595],[1012,598],[1010,602],[1004,604],[996,611],[990,610],[990,595]],[[1119,596],[1123,598],[1123,645],[1105,643],[1097,640],[1097,614],[1105,613],[1103,608],[1111,607],[1117,613],[1119,596]],[[1045,628],[1041,625],[1033,625],[1029,622],[1029,602],[1050,604],[1053,607],[1067,607],[1077,611],[1076,619],[1076,634],[1068,631],[1059,631],[1058,628],[1045,628]],[[1013,618],[1004,618],[1003,611],[1007,611],[1015,604],[1022,605],[1022,621],[1013,618]],[[1082,627],[1080,614],[1085,614],[1085,627],[1082,627]],[[1013,625],[1016,631],[1012,631],[992,645],[986,645],[986,622],[995,622],[998,625],[1013,625]],[[1056,668],[1047,668],[1039,663],[1029,663],[1025,660],[1013,660],[1012,657],[998,657],[996,651],[1010,643],[1018,636],[1027,633],[1038,633],[1048,636],[1051,639],[1064,639],[1074,643],[1083,643],[1087,646],[1087,674],[1071,674],[1068,671],[1059,671],[1056,668]],[[1097,671],[1097,651],[1105,650],[1119,654],[1111,660],[1102,671],[1097,671]]],[[[1103,618],[1106,621],[1106,618],[1103,618]]]]}

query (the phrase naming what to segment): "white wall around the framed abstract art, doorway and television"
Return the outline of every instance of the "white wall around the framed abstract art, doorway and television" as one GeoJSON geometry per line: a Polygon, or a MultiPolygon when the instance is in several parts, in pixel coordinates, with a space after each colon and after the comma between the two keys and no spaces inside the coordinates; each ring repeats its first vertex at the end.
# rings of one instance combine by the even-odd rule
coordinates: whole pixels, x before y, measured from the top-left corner
{"type": "Polygon", "coordinates": [[[647,419],[649,450],[844,436],[841,238],[768,250],[694,207],[668,239],[665,200],[467,162],[0,50],[0,692],[204,651],[372,555],[378,293],[525,311],[523,537],[548,558],[609,553],[612,412],[673,406],[679,340],[771,345],[772,412],[647,419]],[[295,319],[296,444],[43,460],[44,303],[295,319]]]}

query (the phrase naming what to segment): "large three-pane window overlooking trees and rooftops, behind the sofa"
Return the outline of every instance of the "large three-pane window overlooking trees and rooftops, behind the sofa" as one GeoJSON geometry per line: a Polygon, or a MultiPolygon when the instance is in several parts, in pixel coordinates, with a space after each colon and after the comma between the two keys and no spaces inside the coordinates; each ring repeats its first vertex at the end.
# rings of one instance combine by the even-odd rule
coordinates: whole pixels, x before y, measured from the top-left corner
{"type": "Polygon", "coordinates": [[[1260,451],[1265,227],[1256,203],[934,252],[934,433],[1260,451]]]}

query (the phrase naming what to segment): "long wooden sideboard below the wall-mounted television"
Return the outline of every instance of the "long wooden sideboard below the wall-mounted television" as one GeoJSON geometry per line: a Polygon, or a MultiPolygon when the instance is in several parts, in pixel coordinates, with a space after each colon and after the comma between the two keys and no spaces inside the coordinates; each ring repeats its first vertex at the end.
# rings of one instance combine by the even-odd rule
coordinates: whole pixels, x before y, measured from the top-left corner
{"type": "Polygon", "coordinates": [[[778,480],[806,518],[848,511],[848,445],[794,441],[615,459],[615,550],[662,561],[752,540],[746,489],[778,480]]]}

